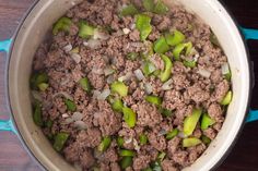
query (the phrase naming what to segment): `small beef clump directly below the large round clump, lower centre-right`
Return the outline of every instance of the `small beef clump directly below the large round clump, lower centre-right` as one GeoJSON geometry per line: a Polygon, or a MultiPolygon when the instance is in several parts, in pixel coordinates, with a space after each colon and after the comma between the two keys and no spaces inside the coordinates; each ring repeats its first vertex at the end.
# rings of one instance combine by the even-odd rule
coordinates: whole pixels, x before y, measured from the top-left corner
{"type": "Polygon", "coordinates": [[[148,139],[150,144],[157,150],[162,151],[166,149],[166,139],[164,136],[157,136],[157,134],[151,132],[148,134],[148,139]]]}

